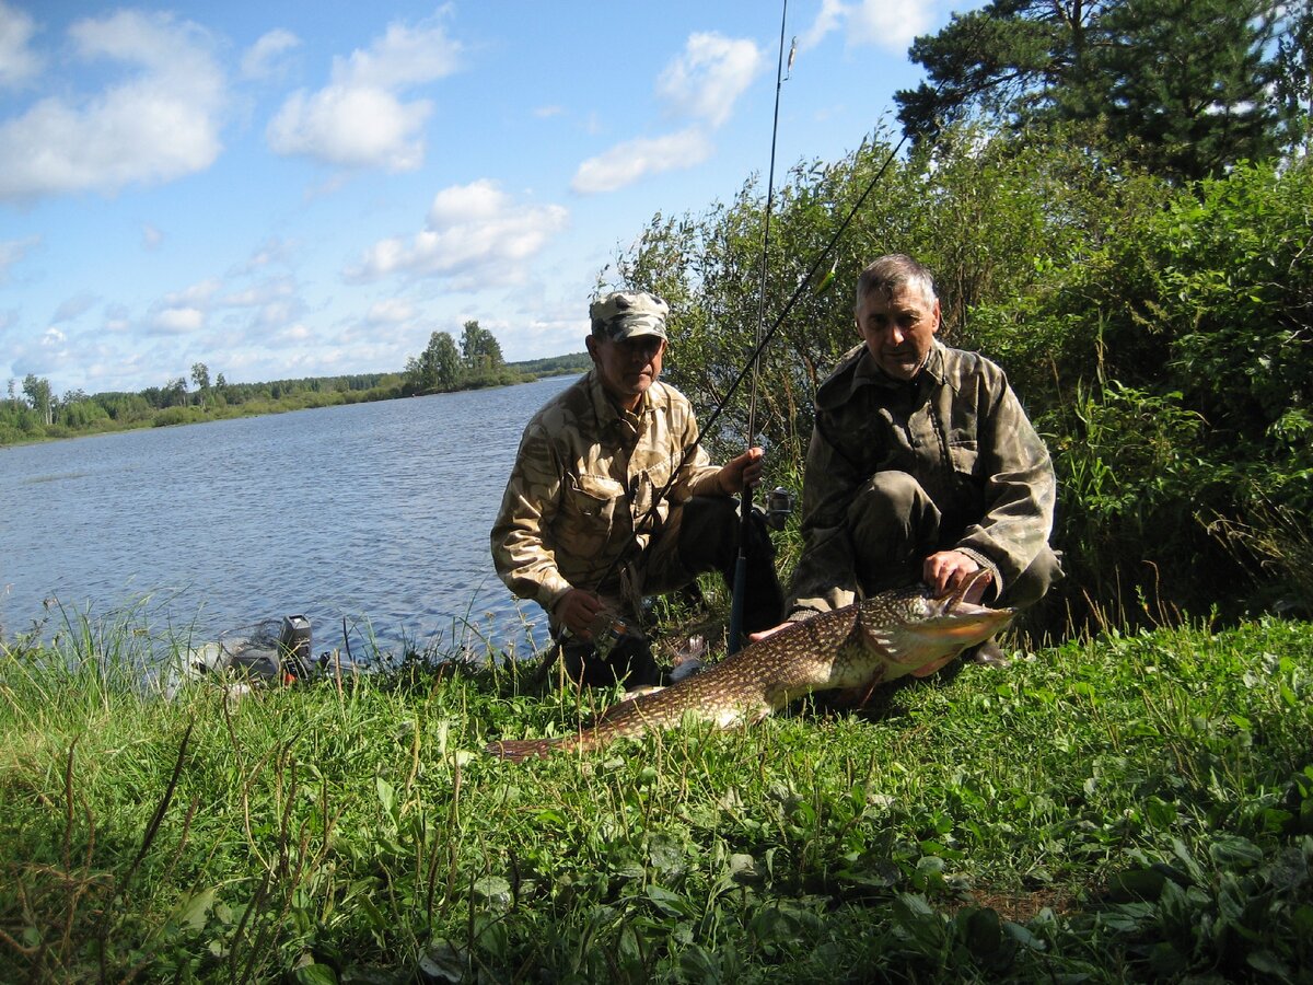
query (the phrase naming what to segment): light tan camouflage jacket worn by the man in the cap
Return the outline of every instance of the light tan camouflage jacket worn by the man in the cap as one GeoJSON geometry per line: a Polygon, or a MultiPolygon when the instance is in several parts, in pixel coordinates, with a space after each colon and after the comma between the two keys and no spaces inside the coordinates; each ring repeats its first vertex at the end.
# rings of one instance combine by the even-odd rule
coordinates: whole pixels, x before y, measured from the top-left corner
{"type": "Polygon", "coordinates": [[[653,517],[647,511],[684,449],[697,440],[688,398],[656,381],[637,414],[618,410],[596,370],[549,401],[529,422],[492,525],[496,573],[549,613],[570,588],[613,591],[626,553],[634,561],[671,502],[722,495],[720,468],[701,445],[688,456],[653,517]],[[608,584],[600,584],[603,578],[608,584]]]}

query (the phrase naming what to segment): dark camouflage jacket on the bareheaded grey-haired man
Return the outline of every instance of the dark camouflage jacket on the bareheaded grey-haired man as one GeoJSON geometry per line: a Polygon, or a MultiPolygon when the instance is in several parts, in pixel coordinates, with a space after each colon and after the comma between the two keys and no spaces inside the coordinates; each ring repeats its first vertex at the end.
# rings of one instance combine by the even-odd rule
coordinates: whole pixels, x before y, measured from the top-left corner
{"type": "Polygon", "coordinates": [[[922,372],[902,382],[857,347],[817,390],[793,619],[856,598],[847,511],[889,469],[922,485],[944,529],[962,531],[952,549],[989,569],[998,592],[1048,544],[1053,465],[1003,370],[936,340],[922,372]]]}

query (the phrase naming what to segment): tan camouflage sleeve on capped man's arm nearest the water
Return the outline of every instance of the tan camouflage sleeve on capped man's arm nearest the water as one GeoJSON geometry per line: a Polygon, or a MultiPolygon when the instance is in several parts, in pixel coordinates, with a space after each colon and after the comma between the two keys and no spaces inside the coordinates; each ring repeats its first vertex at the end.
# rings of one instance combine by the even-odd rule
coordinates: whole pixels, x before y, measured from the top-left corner
{"type": "Polygon", "coordinates": [[[545,429],[530,426],[520,441],[491,535],[498,577],[515,595],[533,599],[549,613],[571,588],[542,540],[559,508],[563,475],[545,429]]]}

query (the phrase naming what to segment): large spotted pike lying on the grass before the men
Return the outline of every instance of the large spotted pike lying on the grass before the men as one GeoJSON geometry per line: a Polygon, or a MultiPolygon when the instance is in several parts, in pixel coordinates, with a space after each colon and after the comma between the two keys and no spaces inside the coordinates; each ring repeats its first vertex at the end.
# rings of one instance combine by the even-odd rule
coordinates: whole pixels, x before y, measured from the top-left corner
{"type": "Polygon", "coordinates": [[[874,687],[924,676],[1007,625],[1012,609],[964,602],[979,575],[932,596],[924,586],[881,592],[794,623],[701,674],[612,705],[578,735],[503,739],[487,751],[506,759],[555,749],[591,750],[617,738],[679,725],[685,714],[718,728],[754,724],[813,691],[874,687]]]}

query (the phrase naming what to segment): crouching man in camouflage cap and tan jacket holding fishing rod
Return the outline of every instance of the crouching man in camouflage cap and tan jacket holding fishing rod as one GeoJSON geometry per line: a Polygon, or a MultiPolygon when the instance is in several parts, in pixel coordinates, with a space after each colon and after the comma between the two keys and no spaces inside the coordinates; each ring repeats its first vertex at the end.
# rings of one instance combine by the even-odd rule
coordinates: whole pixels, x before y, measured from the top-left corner
{"type": "MultiPolygon", "coordinates": [[[[492,527],[492,561],[517,596],[549,613],[566,672],[583,684],[659,683],[646,644],[592,645],[608,613],[633,625],[639,600],[699,571],[733,580],[739,523],[733,496],[762,475],[750,448],[712,465],[681,393],[659,382],[668,305],[645,292],[595,301],[592,369],[529,422],[492,527]],[[675,475],[674,481],[671,477],[675,475]]],[[[755,520],[755,517],[754,517],[755,520]]],[[[747,632],[779,623],[783,592],[764,527],[744,545],[747,632]]]]}

